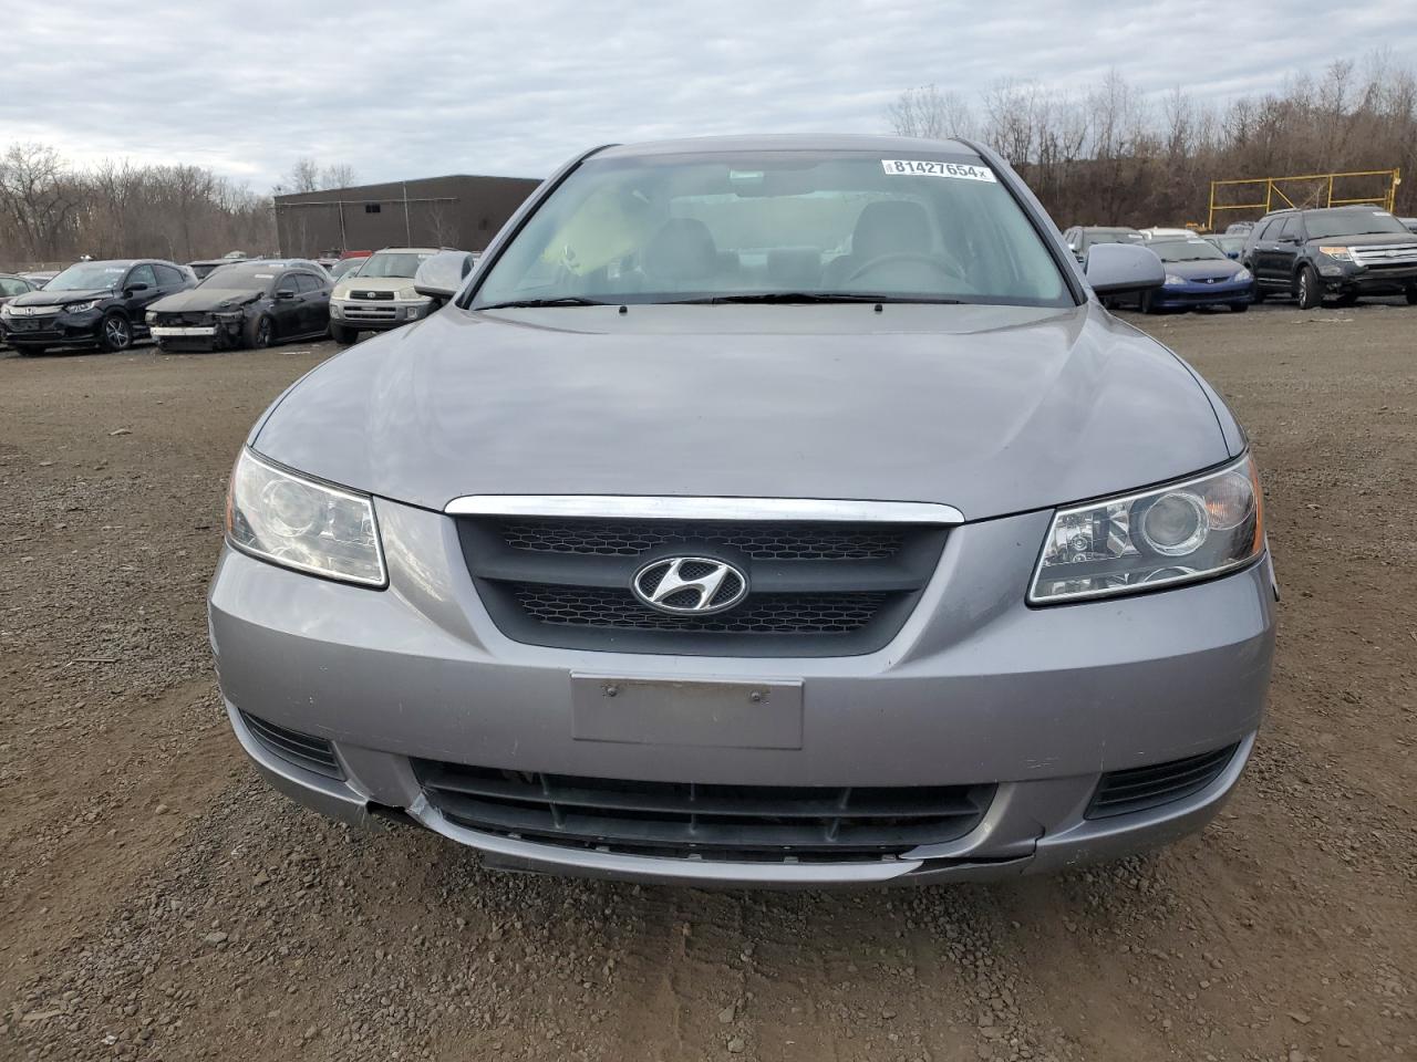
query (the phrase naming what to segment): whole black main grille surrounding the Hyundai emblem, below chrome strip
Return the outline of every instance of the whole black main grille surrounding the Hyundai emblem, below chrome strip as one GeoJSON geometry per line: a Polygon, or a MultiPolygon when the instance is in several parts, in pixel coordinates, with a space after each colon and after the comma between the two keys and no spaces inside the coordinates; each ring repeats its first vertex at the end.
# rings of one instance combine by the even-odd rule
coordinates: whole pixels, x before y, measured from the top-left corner
{"type": "MultiPolygon", "coordinates": [[[[934,524],[871,521],[502,515],[461,517],[458,531],[478,592],[509,637],[689,656],[874,651],[905,622],[947,534],[934,524]],[[710,576],[718,564],[741,572],[730,572],[708,602],[731,606],[684,616],[636,598],[636,576],[645,572],[639,589],[652,596],[653,562],[674,558],[686,581],[710,576]]],[[[694,607],[699,593],[686,589],[660,605],[694,607]]]]}

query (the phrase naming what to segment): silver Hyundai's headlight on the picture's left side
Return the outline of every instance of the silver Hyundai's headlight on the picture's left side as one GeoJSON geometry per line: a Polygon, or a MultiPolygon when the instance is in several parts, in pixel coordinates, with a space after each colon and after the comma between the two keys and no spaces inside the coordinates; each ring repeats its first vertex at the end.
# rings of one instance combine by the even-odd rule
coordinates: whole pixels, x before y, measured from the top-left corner
{"type": "Polygon", "coordinates": [[[227,493],[237,549],[330,579],[384,586],[384,551],[366,494],[302,479],[242,449],[227,493]]]}

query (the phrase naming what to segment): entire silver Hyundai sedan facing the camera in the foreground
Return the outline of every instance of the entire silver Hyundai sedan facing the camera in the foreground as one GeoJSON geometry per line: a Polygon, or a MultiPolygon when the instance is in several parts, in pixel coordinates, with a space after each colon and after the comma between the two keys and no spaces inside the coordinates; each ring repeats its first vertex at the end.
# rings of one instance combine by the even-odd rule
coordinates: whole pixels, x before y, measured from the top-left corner
{"type": "Polygon", "coordinates": [[[1224,402],[964,140],[589,152],[231,479],[210,632],[296,800],[500,868],[1002,878],[1199,830],[1275,586],[1224,402]]]}

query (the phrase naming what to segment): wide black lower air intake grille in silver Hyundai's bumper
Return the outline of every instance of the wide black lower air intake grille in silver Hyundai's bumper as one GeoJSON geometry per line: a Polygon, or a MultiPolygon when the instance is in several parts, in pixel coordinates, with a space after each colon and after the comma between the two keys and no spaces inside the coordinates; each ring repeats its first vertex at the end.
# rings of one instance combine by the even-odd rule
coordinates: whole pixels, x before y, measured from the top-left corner
{"type": "Polygon", "coordinates": [[[428,801],[472,830],[716,861],[849,862],[964,837],[993,786],[723,786],[414,760],[428,801]]]}

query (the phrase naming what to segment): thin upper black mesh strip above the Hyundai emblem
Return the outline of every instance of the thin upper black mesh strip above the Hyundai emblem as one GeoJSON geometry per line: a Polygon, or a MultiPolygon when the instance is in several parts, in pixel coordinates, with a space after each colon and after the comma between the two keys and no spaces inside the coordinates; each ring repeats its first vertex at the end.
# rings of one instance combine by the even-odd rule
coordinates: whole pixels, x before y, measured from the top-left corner
{"type": "Polygon", "coordinates": [[[890,524],[774,524],[677,520],[503,520],[513,549],[543,554],[639,556],[672,542],[707,542],[771,561],[894,556],[904,545],[890,524]]]}

